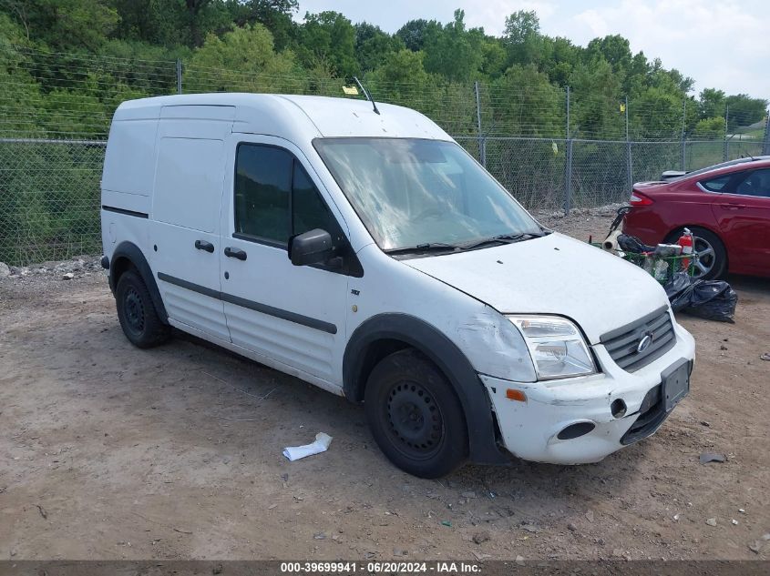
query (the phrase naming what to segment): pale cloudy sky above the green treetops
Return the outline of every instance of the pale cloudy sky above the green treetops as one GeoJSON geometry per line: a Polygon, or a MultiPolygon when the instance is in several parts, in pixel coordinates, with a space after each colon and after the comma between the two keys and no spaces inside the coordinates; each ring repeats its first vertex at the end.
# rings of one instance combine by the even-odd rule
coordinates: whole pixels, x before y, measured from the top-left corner
{"type": "Polygon", "coordinates": [[[540,31],[586,45],[596,36],[620,34],[635,54],[659,57],[695,80],[694,92],[770,99],[770,25],[766,0],[299,0],[306,12],[335,10],[354,23],[366,21],[393,33],[409,20],[449,22],[456,8],[468,27],[501,35],[505,17],[535,10],[540,31]]]}

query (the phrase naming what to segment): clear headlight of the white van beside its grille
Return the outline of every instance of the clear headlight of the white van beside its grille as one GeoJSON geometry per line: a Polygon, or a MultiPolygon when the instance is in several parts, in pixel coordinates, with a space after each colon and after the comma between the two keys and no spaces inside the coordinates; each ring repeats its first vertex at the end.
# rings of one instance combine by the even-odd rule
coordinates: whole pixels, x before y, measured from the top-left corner
{"type": "Polygon", "coordinates": [[[585,376],[596,365],[580,330],[556,316],[508,316],[524,336],[538,379],[585,376]]]}

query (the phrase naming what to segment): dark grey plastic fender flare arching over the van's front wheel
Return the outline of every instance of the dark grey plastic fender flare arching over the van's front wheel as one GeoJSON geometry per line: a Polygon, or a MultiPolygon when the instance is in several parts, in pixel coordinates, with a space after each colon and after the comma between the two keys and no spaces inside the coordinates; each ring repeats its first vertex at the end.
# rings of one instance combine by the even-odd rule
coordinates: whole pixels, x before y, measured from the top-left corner
{"type": "Polygon", "coordinates": [[[465,355],[454,342],[427,322],[406,314],[379,314],[355,328],[343,359],[344,394],[364,399],[365,381],[359,377],[366,350],[377,340],[399,340],[421,351],[441,369],[452,384],[465,411],[469,460],[477,464],[503,464],[510,458],[498,448],[495,422],[487,391],[465,355]]]}

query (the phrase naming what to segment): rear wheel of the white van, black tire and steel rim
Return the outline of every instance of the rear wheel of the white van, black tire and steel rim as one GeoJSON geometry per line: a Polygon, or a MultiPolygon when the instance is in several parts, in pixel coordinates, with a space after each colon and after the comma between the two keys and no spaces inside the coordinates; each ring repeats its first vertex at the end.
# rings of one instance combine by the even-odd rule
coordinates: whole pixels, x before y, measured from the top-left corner
{"type": "Polygon", "coordinates": [[[135,270],[124,272],[118,280],[115,303],[120,328],[131,344],[152,348],[169,339],[171,329],[160,320],[147,285],[135,270]]]}

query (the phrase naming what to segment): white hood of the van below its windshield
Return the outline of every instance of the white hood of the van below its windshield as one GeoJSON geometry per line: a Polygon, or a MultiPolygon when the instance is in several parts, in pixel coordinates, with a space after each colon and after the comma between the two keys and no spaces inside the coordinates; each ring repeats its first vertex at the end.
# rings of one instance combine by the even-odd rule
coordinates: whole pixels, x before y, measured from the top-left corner
{"type": "Polygon", "coordinates": [[[556,314],[578,323],[591,344],[668,306],[660,284],[630,262],[552,233],[404,264],[503,314],[556,314]]]}

